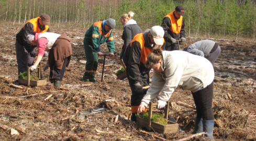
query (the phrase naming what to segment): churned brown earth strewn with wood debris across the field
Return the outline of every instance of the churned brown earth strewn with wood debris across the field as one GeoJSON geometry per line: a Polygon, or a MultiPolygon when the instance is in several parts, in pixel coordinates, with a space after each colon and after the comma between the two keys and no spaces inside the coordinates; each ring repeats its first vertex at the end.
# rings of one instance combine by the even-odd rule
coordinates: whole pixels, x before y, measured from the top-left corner
{"type": "MultiPolygon", "coordinates": [[[[49,69],[42,72],[43,78],[47,79],[46,86],[10,87],[10,84],[19,85],[15,35],[22,26],[0,24],[0,140],[159,140],[153,135],[177,140],[191,135],[195,111],[176,102],[193,105],[193,97],[190,91],[181,88],[172,95],[173,105],[169,111],[179,123],[180,132],[159,134],[147,131],[150,134],[144,134],[140,131],[146,130],[128,120],[131,96],[128,80],[118,80],[115,75],[121,68],[118,58],[123,40],[119,30],[113,32],[116,52],[114,58],[106,57],[103,83],[103,57],[100,57],[97,83],[82,86],[86,84],[81,78],[85,70],[83,38],[87,28],[55,28],[57,26],[52,25],[52,32],[65,32],[71,38],[73,55],[62,81],[62,88],[66,89],[53,87],[48,80],[49,69]],[[40,95],[21,98],[36,93],[40,95]],[[52,97],[45,100],[50,95],[52,97]],[[100,108],[106,110],[92,112],[100,108]],[[10,135],[8,128],[16,129],[20,135],[10,135]]],[[[187,38],[182,48],[199,40],[202,39],[187,38]]],[[[216,140],[256,140],[256,42],[211,40],[222,50],[214,66],[214,137],[216,140]]],[[[101,49],[108,52],[106,44],[101,45],[101,49]]],[[[42,66],[46,61],[47,58],[43,58],[42,66]]]]}

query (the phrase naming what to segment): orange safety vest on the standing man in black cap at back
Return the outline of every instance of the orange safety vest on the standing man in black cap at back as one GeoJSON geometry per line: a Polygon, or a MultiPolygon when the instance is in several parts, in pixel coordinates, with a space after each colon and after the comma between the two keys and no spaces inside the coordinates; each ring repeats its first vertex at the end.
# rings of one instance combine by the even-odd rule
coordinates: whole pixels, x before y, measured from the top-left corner
{"type": "Polygon", "coordinates": [[[181,27],[182,27],[183,16],[181,16],[180,19],[176,19],[174,17],[174,11],[172,11],[171,13],[167,14],[165,17],[168,17],[171,21],[171,26],[170,26],[169,30],[174,33],[180,33],[181,27]]]}

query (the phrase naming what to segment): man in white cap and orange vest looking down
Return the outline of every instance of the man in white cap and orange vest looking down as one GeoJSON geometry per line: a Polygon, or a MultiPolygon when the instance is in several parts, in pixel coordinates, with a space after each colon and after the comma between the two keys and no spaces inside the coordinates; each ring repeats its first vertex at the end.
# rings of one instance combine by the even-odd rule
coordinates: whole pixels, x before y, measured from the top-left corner
{"type": "Polygon", "coordinates": [[[161,47],[164,44],[164,31],[160,26],[153,26],[143,33],[137,34],[127,46],[123,55],[126,65],[126,73],[131,88],[131,120],[136,121],[136,113],[141,99],[147,93],[142,87],[149,85],[150,69],[144,66],[147,55],[152,52],[155,46],[161,47]]]}

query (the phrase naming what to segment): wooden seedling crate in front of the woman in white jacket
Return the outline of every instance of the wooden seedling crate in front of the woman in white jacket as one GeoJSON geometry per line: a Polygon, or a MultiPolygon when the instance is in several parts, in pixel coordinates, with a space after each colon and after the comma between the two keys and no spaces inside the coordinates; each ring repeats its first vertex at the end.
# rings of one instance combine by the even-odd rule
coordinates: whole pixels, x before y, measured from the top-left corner
{"type": "MultiPolygon", "coordinates": [[[[165,105],[165,110],[164,110],[164,118],[167,120],[168,119],[168,112],[169,112],[169,104],[170,102],[168,102],[165,105]]],[[[149,103],[149,119],[143,119],[142,117],[137,117],[137,122],[139,124],[139,126],[147,128],[148,131],[154,130],[158,133],[161,134],[171,134],[171,133],[175,133],[179,130],[179,124],[174,123],[172,121],[168,121],[168,125],[162,125],[159,123],[155,123],[155,122],[151,122],[151,118],[152,118],[152,102],[149,103]]]]}

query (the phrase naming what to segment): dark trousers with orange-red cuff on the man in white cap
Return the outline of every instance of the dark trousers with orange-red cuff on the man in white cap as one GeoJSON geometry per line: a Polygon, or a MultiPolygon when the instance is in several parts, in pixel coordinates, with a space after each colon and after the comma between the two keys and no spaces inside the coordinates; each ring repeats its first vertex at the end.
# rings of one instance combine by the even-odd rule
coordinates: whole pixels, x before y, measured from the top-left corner
{"type": "MultiPolygon", "coordinates": [[[[148,86],[149,85],[149,74],[147,73],[147,74],[140,74],[140,75],[141,75],[141,80],[142,80],[140,82],[140,85],[142,87],[148,86]]],[[[141,103],[141,100],[144,97],[144,95],[146,95],[148,89],[143,90],[143,92],[134,91],[134,84],[131,82],[131,80],[129,80],[129,76],[127,78],[128,78],[129,85],[131,88],[131,113],[137,113],[139,105],[141,103]]]]}

